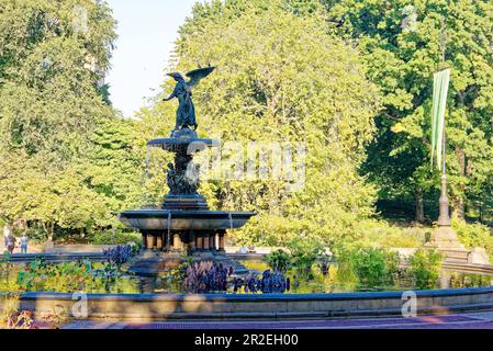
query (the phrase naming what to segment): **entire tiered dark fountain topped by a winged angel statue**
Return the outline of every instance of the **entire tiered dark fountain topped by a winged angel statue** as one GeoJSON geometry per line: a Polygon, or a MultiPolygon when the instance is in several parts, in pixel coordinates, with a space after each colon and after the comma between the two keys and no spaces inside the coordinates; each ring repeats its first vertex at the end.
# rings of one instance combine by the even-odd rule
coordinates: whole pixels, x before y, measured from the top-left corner
{"type": "Polygon", "coordinates": [[[213,70],[214,67],[199,67],[186,75],[188,81],[180,73],[168,73],[176,86],[164,101],[178,99],[176,126],[170,137],[153,139],[147,146],[175,154],[175,161],[167,169],[169,193],[160,208],[125,211],[119,215],[123,224],[142,233],[143,247],[154,252],[221,256],[226,229],[239,228],[255,215],[210,211],[204,196],[198,192],[200,168],[193,162],[193,156],[217,143],[198,137],[192,88],[213,70]]]}

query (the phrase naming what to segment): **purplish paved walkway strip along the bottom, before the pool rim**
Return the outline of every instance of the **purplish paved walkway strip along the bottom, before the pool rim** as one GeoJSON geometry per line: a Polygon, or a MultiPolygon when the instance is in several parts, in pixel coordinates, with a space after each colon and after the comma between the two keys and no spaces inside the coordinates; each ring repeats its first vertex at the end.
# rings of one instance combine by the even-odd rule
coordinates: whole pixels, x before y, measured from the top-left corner
{"type": "Polygon", "coordinates": [[[64,329],[493,329],[493,312],[417,318],[282,321],[72,321],[64,329]]]}

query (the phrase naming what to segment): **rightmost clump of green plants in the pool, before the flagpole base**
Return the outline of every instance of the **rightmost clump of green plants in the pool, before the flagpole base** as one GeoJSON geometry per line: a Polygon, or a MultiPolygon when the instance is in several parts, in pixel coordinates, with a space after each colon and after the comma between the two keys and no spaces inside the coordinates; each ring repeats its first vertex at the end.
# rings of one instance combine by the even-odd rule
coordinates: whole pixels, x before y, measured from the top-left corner
{"type": "Polygon", "coordinates": [[[410,260],[408,273],[417,288],[435,288],[441,270],[442,256],[436,250],[419,249],[410,260]]]}

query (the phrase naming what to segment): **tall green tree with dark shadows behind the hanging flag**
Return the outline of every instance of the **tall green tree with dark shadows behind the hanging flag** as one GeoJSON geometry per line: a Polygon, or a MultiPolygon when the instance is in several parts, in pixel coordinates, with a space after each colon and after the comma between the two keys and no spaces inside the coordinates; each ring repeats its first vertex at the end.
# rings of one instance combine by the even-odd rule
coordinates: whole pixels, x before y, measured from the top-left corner
{"type": "Polygon", "coordinates": [[[330,19],[344,19],[332,32],[358,46],[367,76],[382,94],[384,109],[377,117],[381,131],[377,147],[370,148],[378,154],[369,160],[383,161],[367,168],[377,181],[397,180],[397,188],[406,188],[417,199],[430,190],[430,183],[439,186],[437,172],[429,173],[428,156],[433,72],[452,69],[447,168],[453,215],[462,217],[468,194],[485,195],[481,189],[492,173],[493,4],[474,0],[326,3],[330,19]],[[403,158],[401,168],[385,167],[403,158]]]}

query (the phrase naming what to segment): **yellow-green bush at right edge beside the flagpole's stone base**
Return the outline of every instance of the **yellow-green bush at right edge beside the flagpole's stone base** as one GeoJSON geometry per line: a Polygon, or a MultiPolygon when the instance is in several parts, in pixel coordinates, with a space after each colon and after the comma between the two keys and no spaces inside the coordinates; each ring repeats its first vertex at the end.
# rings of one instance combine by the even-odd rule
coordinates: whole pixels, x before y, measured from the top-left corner
{"type": "Polygon", "coordinates": [[[462,219],[452,219],[452,228],[456,229],[460,241],[468,248],[484,248],[490,257],[493,257],[492,230],[485,225],[468,224],[462,219]]]}

